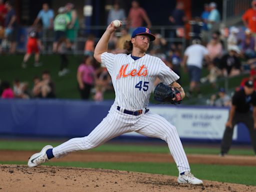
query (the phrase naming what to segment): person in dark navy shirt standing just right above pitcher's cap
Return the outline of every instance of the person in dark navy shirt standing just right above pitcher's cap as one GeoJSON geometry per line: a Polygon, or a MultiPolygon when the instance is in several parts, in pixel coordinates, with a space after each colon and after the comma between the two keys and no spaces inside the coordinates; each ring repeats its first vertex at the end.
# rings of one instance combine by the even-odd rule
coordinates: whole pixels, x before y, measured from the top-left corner
{"type": "MultiPolygon", "coordinates": [[[[184,13],[184,4],[183,2],[177,2],[175,9],[172,11],[171,15],[169,16],[169,21],[171,25],[174,27],[169,31],[169,38],[176,38],[176,29],[178,27],[184,27],[184,24],[187,20],[185,13],[184,13]]],[[[169,44],[172,46],[171,48],[176,49],[174,44],[169,44]]]]}

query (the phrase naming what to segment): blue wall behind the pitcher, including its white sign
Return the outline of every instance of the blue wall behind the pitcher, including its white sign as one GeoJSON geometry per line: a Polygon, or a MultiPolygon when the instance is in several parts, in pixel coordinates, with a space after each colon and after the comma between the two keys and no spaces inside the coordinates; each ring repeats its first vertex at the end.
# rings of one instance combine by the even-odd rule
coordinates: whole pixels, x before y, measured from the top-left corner
{"type": "MultiPolygon", "coordinates": [[[[64,99],[0,99],[0,135],[30,137],[86,136],[106,116],[113,101],[64,99]]],[[[149,109],[174,124],[183,141],[219,142],[228,108],[151,104],[149,109]]],[[[137,133],[125,134],[134,138],[137,133]]],[[[245,125],[239,123],[233,141],[250,143],[245,125]]]]}

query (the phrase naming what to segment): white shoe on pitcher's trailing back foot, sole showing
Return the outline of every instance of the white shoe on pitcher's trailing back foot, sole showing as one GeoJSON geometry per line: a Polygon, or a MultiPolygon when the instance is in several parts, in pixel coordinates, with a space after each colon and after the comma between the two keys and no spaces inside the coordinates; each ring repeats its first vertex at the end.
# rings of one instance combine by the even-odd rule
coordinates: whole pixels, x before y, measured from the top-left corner
{"type": "Polygon", "coordinates": [[[34,153],[27,161],[29,167],[37,166],[43,162],[48,161],[46,150],[53,148],[51,145],[44,146],[40,152],[34,153]]]}

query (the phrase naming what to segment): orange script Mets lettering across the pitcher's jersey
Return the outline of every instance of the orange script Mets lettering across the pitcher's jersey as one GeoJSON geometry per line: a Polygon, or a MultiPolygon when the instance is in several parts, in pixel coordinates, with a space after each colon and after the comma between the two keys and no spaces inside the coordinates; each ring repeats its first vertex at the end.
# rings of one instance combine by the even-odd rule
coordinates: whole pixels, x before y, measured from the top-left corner
{"type": "Polygon", "coordinates": [[[127,76],[147,76],[147,67],[143,64],[139,67],[139,69],[133,68],[130,71],[126,72],[129,64],[123,64],[119,70],[116,79],[120,79],[122,77],[127,76]]]}

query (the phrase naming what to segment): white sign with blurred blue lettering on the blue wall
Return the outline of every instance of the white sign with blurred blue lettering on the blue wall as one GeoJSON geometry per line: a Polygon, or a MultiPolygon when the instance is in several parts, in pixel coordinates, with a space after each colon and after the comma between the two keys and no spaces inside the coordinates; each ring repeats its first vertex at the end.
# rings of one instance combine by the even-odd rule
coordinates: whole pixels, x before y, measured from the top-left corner
{"type": "MultiPolygon", "coordinates": [[[[173,124],[181,138],[222,139],[228,118],[226,108],[150,106],[150,110],[173,124]]],[[[236,138],[234,130],[233,139],[236,138]]]]}

